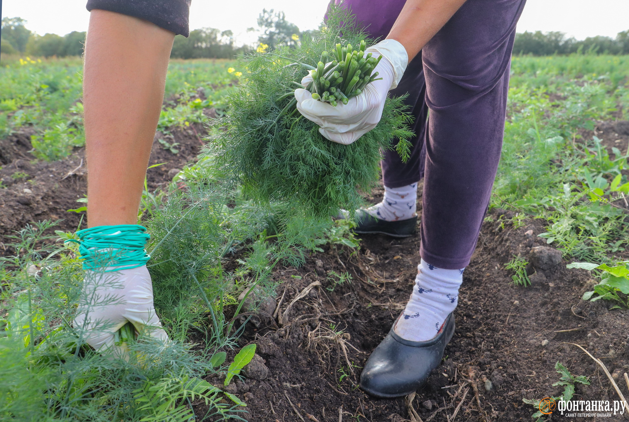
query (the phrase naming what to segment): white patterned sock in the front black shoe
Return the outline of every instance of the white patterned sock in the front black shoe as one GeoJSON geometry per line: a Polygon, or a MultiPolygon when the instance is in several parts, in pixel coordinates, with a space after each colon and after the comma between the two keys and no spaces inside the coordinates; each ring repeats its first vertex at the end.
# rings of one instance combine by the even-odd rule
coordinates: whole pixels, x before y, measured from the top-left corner
{"type": "Polygon", "coordinates": [[[457,307],[465,268],[440,269],[421,260],[417,269],[413,294],[393,329],[406,340],[423,342],[437,336],[457,307]]]}

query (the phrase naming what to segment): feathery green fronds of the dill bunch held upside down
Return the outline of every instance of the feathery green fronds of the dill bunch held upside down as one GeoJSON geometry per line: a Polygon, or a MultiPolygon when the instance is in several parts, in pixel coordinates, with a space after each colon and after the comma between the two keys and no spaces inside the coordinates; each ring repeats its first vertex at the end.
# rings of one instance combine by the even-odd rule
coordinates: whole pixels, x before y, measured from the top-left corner
{"type": "Polygon", "coordinates": [[[290,202],[324,217],[339,208],[353,212],[364,203],[359,189],[376,185],[381,150],[393,148],[394,139],[399,153],[408,156],[411,117],[401,98],[387,99],[379,124],[347,146],[323,138],[318,125],[294,111],[292,95],[281,99],[307,73],[292,63],[316,67],[323,51],[337,43],[359,45],[366,38],[353,23],[353,16],[333,6],[327,26],[304,36],[297,48],[240,59],[247,69],[245,83],[228,96],[230,111],[213,121],[224,130],[209,137],[204,151],[213,156],[218,178],[237,183],[259,205],[290,202]]]}

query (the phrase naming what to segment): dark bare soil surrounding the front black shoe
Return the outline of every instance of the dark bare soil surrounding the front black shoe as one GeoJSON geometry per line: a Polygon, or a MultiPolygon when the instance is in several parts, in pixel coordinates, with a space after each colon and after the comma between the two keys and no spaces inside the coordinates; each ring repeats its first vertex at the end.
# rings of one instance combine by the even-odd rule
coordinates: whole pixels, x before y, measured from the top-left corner
{"type": "MultiPolygon", "coordinates": [[[[589,377],[591,385],[577,386],[575,398],[618,400],[601,368],[570,343],[602,359],[626,394],[622,374],[629,372],[628,311],[608,311],[611,305],[603,301],[582,301],[596,283],[588,271],[566,269],[569,261],[548,258],[548,253],[556,255],[552,249],[532,252],[546,246],[537,237],[544,231],[542,221],[516,229],[508,222],[510,212],[493,210],[490,217],[464,273],[454,338],[442,365],[411,403],[416,416],[408,398],[371,398],[357,384],[369,353],[408,300],[420,239],[362,235],[360,251],[351,257],[347,249],[330,248],[309,257],[301,268],[276,271],[282,281],[278,316],[273,323],[260,318],[243,339],[243,345],[258,345],[262,359],[253,362],[248,379],[231,387],[247,401],[248,421],[336,422],[341,416],[346,421],[412,421],[417,416],[452,421],[455,412],[457,421],[526,421],[537,409],[523,398],[562,392],[552,386],[559,381],[557,361],[573,374],[589,377]],[[545,268],[530,267],[532,286],[515,286],[504,269],[517,254],[536,256],[534,261],[545,268]],[[348,271],[352,282],[330,291],[328,271],[348,271]]],[[[555,415],[551,420],[560,419],[555,415]]]]}

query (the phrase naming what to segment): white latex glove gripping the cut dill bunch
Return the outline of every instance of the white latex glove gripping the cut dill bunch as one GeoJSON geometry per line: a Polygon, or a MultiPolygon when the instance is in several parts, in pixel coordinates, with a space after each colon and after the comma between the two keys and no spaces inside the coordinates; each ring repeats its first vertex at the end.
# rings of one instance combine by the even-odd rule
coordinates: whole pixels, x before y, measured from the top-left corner
{"type": "MultiPolygon", "coordinates": [[[[372,57],[382,55],[382,60],[374,69],[382,80],[368,84],[362,94],[353,97],[347,104],[338,102],[336,107],[327,102],[315,100],[306,89],[296,89],[297,109],[318,124],[319,133],[330,141],[349,145],[376,127],[382,117],[382,109],[389,90],[398,86],[399,80],[408,65],[408,54],[403,45],[396,40],[380,41],[367,48],[365,54],[372,57]]],[[[301,80],[306,86],[312,81],[307,75],[301,80]]]]}

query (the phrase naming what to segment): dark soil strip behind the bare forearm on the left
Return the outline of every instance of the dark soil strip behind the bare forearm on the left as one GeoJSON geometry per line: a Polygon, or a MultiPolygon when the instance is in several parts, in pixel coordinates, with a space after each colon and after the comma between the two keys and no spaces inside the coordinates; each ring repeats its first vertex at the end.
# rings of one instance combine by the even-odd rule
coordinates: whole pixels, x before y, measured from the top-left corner
{"type": "MultiPolygon", "coordinates": [[[[186,163],[195,160],[199,148],[203,146],[201,137],[206,129],[201,124],[191,125],[186,129],[173,128],[172,138],[168,143],[179,143],[179,150],[173,154],[164,149],[155,136],[149,165],[165,163],[148,169],[148,188],[153,190],[162,187],[172,180],[177,170],[186,163]]],[[[0,245],[10,243],[7,236],[13,234],[30,222],[40,220],[61,220],[58,230],[73,231],[79,228],[84,212],[79,214],[68,212],[86,205],[76,202],[87,194],[87,163],[84,149],[77,148],[73,154],[59,161],[38,161],[28,152],[31,129],[23,131],[0,141],[0,245]]],[[[80,228],[86,227],[83,218],[80,228]]],[[[6,251],[6,248],[4,248],[6,251]]]]}

